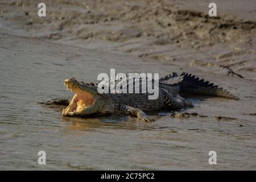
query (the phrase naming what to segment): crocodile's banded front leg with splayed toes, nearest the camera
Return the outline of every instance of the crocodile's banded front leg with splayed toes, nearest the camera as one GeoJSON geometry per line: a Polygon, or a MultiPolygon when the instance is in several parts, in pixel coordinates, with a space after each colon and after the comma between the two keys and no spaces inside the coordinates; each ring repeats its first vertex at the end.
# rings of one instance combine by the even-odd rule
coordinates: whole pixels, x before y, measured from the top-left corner
{"type": "Polygon", "coordinates": [[[155,121],[154,119],[148,118],[147,115],[141,109],[131,107],[131,106],[127,106],[127,105],[119,106],[118,110],[117,110],[117,113],[137,117],[139,120],[144,121],[144,122],[155,121]]]}

